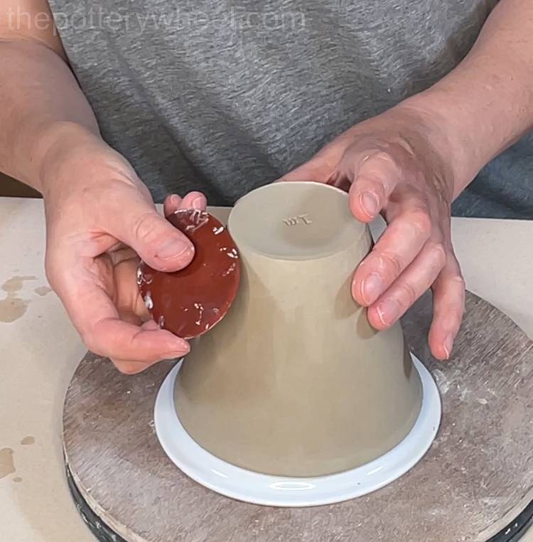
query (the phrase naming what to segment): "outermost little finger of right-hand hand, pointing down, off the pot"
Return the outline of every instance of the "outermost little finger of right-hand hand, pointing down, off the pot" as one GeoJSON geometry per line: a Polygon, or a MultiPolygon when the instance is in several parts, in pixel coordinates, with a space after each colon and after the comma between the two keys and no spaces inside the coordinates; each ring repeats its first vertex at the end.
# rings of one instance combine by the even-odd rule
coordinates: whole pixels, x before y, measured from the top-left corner
{"type": "Polygon", "coordinates": [[[433,322],[429,328],[429,346],[437,359],[450,357],[464,312],[465,281],[461,267],[452,254],[433,285],[433,322]]]}

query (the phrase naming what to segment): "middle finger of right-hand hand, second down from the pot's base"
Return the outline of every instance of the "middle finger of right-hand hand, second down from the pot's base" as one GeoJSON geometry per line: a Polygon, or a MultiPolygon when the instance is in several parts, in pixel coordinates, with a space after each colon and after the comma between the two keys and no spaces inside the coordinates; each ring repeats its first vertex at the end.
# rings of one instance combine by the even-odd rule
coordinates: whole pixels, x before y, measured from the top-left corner
{"type": "Polygon", "coordinates": [[[406,201],[403,212],[394,218],[372,252],[355,270],[352,295],[368,307],[419,254],[431,235],[428,211],[418,201],[406,201]]]}

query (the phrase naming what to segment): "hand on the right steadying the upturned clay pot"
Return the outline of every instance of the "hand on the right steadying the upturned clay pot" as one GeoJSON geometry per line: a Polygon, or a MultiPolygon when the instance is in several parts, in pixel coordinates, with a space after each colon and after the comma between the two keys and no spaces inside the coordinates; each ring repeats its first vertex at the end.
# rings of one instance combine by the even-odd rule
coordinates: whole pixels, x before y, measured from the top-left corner
{"type": "Polygon", "coordinates": [[[397,322],[431,287],[434,318],[429,345],[451,354],[465,303],[465,283],[450,231],[454,179],[446,134],[428,115],[399,105],[355,125],[281,181],[318,181],[349,191],[350,209],[388,227],[357,267],[352,294],[368,307],[375,329],[397,322]]]}

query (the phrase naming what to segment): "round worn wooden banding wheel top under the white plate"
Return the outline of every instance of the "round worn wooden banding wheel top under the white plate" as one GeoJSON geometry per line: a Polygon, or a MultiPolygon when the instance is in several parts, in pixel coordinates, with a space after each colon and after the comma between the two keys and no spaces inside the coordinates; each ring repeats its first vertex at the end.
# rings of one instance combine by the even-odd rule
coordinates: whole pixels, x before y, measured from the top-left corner
{"type": "Polygon", "coordinates": [[[403,319],[436,379],[443,418],[426,456],[396,482],[330,506],[281,509],[215,494],[181,473],[154,434],[171,368],[124,376],[87,354],[63,414],[65,462],[83,519],[102,541],[515,541],[533,514],[533,341],[473,294],[452,358],[431,358],[431,297],[403,319]]]}

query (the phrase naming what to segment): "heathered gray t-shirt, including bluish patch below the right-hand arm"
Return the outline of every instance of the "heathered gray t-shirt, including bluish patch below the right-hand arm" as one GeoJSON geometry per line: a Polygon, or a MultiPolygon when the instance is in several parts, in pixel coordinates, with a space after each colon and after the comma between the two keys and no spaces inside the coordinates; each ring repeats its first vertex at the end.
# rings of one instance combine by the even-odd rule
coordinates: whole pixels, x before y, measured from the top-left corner
{"type": "MultiPolygon", "coordinates": [[[[104,138],[156,200],[231,204],[429,87],[497,0],[50,0],[104,138]]],[[[533,218],[533,136],[455,214],[533,218]]]]}

